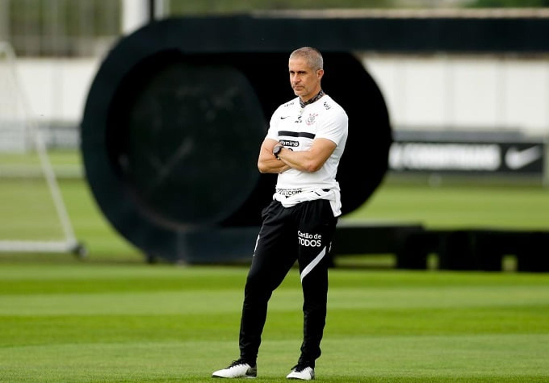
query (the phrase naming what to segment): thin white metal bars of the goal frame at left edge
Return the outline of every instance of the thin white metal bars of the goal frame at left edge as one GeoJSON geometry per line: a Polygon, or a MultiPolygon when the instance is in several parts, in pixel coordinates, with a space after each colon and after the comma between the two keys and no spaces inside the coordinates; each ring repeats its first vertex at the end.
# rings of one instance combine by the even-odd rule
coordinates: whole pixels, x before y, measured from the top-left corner
{"type": "MultiPolygon", "coordinates": [[[[15,51],[8,42],[0,41],[0,53],[3,53],[8,61],[12,60],[12,63],[15,62],[15,51]]],[[[65,240],[0,240],[0,252],[71,252],[75,255],[83,257],[86,255],[85,247],[83,247],[83,245],[76,240],[74,229],[72,228],[68,212],[66,211],[66,207],[63,202],[63,197],[61,196],[61,192],[59,190],[59,184],[55,178],[55,172],[49,162],[46,144],[44,143],[36,121],[32,117],[33,115],[31,113],[29,102],[23,92],[23,88],[19,82],[19,77],[15,71],[14,65],[10,65],[10,63],[8,63],[8,70],[12,74],[15,92],[17,93],[16,96],[20,99],[21,108],[23,108],[23,111],[29,117],[27,125],[31,133],[32,143],[38,153],[40,166],[42,168],[42,172],[44,173],[44,178],[46,178],[48,190],[52,196],[55,212],[57,212],[57,216],[59,217],[65,240]]]]}

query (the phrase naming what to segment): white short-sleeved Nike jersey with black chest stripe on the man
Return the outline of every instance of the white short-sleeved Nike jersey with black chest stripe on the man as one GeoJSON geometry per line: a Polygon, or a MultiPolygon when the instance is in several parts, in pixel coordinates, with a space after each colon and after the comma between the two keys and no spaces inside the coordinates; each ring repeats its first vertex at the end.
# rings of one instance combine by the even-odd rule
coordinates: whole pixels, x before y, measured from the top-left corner
{"type": "MultiPolygon", "coordinates": [[[[274,198],[283,205],[292,206],[292,201],[336,198],[339,204],[339,184],[335,181],[339,160],[345,150],[348,134],[348,117],[345,110],[329,95],[301,108],[299,97],[278,107],[271,117],[267,138],[277,140],[285,148],[294,151],[308,150],[316,138],[326,138],[337,145],[332,155],[316,172],[289,169],[278,174],[274,198]],[[326,194],[326,191],[335,191],[326,194]],[[314,193],[317,191],[317,193],[314,193]],[[312,192],[312,193],[307,193],[312,192]],[[304,193],[304,194],[302,194],[304,193]],[[307,194],[307,195],[305,195],[307,194]],[[286,202],[286,204],[284,204],[286,202]]],[[[295,204],[294,204],[295,205],[295,204]]],[[[339,207],[334,206],[334,215],[339,207]]]]}

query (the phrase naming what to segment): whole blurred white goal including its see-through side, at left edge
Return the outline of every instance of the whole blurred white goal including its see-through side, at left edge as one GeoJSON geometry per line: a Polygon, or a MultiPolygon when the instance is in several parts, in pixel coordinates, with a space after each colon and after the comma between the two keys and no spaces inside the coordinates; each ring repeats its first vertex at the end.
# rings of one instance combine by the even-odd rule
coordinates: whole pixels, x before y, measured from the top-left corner
{"type": "Polygon", "coordinates": [[[0,41],[0,252],[84,256],[15,65],[0,41]]]}

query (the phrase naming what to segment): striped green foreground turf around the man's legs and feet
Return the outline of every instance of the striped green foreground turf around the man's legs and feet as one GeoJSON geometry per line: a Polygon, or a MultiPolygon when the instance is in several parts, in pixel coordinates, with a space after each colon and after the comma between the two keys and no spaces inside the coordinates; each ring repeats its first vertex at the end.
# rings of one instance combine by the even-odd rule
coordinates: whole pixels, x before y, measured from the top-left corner
{"type": "MultiPolygon", "coordinates": [[[[246,268],[0,267],[0,381],[211,381],[238,355],[246,268]]],[[[549,275],[330,271],[319,381],[549,380],[549,275]]],[[[258,366],[285,381],[301,290],[275,291],[258,366]]]]}

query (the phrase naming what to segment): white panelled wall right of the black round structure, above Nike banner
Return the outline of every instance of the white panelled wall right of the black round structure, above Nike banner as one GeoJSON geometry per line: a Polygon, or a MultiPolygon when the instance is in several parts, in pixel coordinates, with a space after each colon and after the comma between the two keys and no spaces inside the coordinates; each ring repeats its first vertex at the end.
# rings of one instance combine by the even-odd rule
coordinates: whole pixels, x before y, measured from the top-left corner
{"type": "Polygon", "coordinates": [[[400,128],[549,136],[549,57],[362,55],[400,128]]]}

